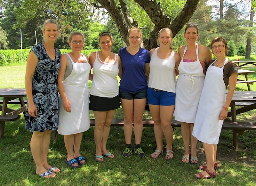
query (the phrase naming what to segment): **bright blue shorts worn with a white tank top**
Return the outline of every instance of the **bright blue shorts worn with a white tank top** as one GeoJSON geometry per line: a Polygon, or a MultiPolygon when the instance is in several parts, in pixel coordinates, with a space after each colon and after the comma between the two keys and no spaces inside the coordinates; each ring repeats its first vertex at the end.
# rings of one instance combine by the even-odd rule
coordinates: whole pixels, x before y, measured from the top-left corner
{"type": "Polygon", "coordinates": [[[175,105],[175,93],[148,88],[148,104],[162,106],[175,105]]]}

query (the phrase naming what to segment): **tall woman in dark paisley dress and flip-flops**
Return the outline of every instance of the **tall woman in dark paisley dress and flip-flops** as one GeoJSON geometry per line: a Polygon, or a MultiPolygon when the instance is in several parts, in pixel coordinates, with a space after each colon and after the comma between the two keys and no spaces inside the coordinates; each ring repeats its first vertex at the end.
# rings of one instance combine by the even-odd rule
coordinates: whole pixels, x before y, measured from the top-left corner
{"type": "Polygon", "coordinates": [[[57,77],[60,69],[60,50],[54,47],[59,35],[58,23],[47,19],[43,25],[43,43],[32,47],[27,59],[25,88],[28,98],[26,129],[33,132],[30,149],[36,163],[36,174],[55,177],[59,168],[47,162],[52,130],[57,130],[59,100],[57,77]]]}

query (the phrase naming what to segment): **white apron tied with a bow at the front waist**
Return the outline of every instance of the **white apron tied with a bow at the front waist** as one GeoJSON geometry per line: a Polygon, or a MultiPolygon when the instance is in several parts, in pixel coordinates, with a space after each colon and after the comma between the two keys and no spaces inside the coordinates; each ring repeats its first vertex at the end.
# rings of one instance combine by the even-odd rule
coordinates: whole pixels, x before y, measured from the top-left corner
{"type": "Polygon", "coordinates": [[[184,62],[186,51],[187,46],[178,67],[180,75],[176,86],[174,115],[177,121],[194,123],[205,75],[198,58],[198,44],[196,43],[196,61],[184,62]]]}

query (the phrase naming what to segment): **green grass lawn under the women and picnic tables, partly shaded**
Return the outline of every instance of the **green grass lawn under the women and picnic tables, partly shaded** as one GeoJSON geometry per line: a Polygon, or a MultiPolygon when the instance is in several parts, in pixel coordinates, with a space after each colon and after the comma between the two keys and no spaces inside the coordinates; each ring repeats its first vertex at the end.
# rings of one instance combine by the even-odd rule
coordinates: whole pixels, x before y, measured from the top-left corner
{"type": "MultiPolygon", "coordinates": [[[[25,65],[0,67],[0,88],[24,88],[25,70],[25,65]]],[[[256,68],[248,70],[255,71],[256,68]]],[[[256,74],[250,74],[248,78],[256,79],[256,74]]],[[[251,85],[251,89],[256,91],[256,84],[251,85]]],[[[236,90],[246,91],[247,86],[238,84],[236,90]]],[[[255,111],[239,114],[237,120],[256,122],[255,111]]],[[[50,143],[48,160],[50,165],[60,167],[61,172],[55,178],[43,179],[35,174],[36,167],[30,151],[31,133],[25,130],[24,116],[20,115],[19,120],[5,123],[4,138],[0,140],[0,185],[256,185],[255,131],[245,131],[242,136],[239,135],[240,150],[235,151],[232,146],[232,131],[223,130],[218,145],[220,168],[217,177],[197,180],[193,175],[198,172],[197,167],[205,163],[202,143],[197,144],[198,165],[183,163],[183,141],[180,128],[176,128],[173,140],[174,159],[164,160],[164,146],[164,155],[154,160],[150,158],[156,148],[152,127],[143,129],[141,146],[146,152],[144,159],[137,158],[134,153],[129,159],[122,158],[125,148],[123,128],[111,127],[107,148],[116,158],[104,158],[103,163],[94,161],[94,127],[91,127],[84,132],[81,144],[81,154],[88,159],[88,163],[78,169],[68,168],[65,164],[67,153],[64,137],[58,135],[57,143],[50,143]]],[[[91,117],[93,118],[92,113],[91,117]]],[[[123,117],[122,108],[117,109],[114,118],[123,117]]],[[[144,119],[151,119],[149,112],[144,112],[144,119]]]]}

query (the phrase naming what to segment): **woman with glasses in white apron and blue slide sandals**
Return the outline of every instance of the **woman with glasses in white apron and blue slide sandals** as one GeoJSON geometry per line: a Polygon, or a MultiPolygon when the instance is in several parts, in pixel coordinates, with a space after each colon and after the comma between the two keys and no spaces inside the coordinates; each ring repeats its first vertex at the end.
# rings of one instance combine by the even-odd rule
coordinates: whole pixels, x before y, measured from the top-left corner
{"type": "Polygon", "coordinates": [[[71,168],[78,168],[86,163],[86,158],[80,154],[80,146],[83,132],[90,128],[88,78],[91,65],[89,58],[81,53],[84,48],[81,32],[71,32],[68,44],[72,51],[60,56],[58,133],[64,135],[68,153],[65,163],[71,168]]]}

